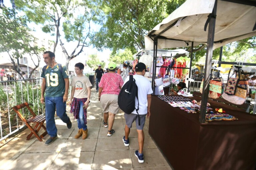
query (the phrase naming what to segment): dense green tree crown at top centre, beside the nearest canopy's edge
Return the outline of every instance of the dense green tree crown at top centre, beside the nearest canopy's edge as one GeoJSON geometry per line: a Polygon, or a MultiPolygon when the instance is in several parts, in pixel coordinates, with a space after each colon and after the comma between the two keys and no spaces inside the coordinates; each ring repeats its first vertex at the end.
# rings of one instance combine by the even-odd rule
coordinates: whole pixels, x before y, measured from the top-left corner
{"type": "Polygon", "coordinates": [[[185,0],[101,0],[102,28],[91,39],[98,49],[144,48],[144,36],[185,0]]]}

